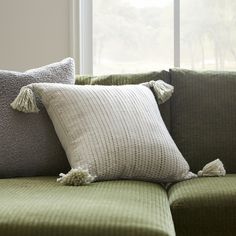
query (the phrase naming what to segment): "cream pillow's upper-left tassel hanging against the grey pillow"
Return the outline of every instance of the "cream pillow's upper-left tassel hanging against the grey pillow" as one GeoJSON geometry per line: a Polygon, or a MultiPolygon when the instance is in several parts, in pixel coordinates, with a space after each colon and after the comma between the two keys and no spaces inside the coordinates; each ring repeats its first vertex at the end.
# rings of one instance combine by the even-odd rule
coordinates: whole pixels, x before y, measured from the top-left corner
{"type": "Polygon", "coordinates": [[[21,88],[20,93],[11,103],[13,109],[24,113],[35,113],[39,111],[34,92],[31,88],[32,86],[30,85],[21,88]]]}

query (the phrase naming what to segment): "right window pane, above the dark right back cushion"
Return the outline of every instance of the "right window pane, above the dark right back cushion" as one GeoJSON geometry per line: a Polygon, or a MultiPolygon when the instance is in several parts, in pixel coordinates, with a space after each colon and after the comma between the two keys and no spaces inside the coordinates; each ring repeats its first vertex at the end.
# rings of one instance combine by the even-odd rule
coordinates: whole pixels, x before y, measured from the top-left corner
{"type": "Polygon", "coordinates": [[[236,1],[180,0],[180,65],[236,69],[236,1]]]}

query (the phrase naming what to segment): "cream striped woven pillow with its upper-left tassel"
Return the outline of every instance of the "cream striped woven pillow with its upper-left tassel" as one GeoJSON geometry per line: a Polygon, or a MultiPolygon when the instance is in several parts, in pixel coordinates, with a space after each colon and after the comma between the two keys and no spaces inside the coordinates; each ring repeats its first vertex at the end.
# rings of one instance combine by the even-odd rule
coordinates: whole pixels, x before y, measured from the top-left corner
{"type": "Polygon", "coordinates": [[[194,176],[148,87],[32,84],[12,107],[37,112],[32,91],[41,97],[72,168],[88,169],[96,180],[173,182],[194,176]]]}

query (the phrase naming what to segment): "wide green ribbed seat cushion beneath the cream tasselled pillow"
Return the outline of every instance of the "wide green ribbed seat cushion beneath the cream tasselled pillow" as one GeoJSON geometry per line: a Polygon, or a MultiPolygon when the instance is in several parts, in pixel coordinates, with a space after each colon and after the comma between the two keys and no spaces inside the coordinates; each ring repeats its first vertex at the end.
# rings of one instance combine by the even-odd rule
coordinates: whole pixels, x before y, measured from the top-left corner
{"type": "Polygon", "coordinates": [[[71,187],[55,177],[0,180],[0,235],[175,235],[166,191],[141,181],[71,187]]]}

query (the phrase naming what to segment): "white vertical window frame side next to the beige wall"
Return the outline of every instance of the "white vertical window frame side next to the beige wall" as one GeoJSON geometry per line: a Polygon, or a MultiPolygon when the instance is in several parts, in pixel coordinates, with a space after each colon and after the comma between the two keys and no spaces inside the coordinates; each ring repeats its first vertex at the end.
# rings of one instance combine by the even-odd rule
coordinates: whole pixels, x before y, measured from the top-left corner
{"type": "Polygon", "coordinates": [[[93,74],[93,1],[80,0],[80,74],[93,74]]]}

